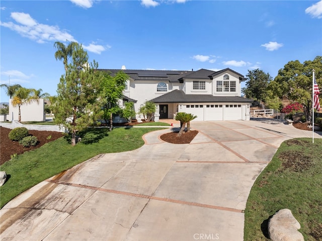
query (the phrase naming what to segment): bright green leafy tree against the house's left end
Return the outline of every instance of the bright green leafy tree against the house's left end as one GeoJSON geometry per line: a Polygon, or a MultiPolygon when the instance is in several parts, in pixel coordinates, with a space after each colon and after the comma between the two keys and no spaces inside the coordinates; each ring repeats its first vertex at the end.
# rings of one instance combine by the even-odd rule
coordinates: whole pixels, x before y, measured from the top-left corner
{"type": "Polygon", "coordinates": [[[128,75],[119,71],[115,76],[109,72],[101,71],[101,106],[103,106],[103,118],[109,122],[110,131],[113,129],[113,114],[121,114],[119,105],[125,89],[128,75]]]}

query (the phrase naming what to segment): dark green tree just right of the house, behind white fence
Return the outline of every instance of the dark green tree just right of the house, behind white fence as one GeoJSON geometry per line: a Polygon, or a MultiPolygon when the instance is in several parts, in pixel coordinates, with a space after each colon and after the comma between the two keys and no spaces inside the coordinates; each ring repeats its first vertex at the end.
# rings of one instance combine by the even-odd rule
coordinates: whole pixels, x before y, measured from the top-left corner
{"type": "Polygon", "coordinates": [[[262,101],[265,99],[266,88],[272,80],[272,76],[269,73],[265,73],[261,69],[248,70],[248,81],[246,82],[246,88],[242,91],[247,98],[262,101]]]}

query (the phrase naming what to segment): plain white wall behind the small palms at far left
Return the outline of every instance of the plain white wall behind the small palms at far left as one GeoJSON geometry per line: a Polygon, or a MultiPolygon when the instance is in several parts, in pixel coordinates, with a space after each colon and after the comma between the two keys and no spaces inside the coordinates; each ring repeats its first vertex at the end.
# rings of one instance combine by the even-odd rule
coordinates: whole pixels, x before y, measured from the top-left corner
{"type": "MultiPolygon", "coordinates": [[[[29,104],[24,104],[20,107],[21,121],[45,121],[45,101],[38,99],[29,104]]],[[[9,121],[19,120],[19,108],[12,105],[12,100],[9,101],[9,121]]]]}

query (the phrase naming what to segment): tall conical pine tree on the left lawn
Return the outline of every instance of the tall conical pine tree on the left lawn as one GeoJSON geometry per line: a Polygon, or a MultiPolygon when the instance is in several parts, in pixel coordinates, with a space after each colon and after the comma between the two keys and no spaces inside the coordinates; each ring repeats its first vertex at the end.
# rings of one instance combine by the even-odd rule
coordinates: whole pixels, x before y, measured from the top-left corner
{"type": "Polygon", "coordinates": [[[94,61],[88,65],[88,54],[82,45],[73,45],[72,60],[60,77],[54,104],[54,121],[71,133],[71,144],[76,144],[76,133],[88,128],[96,120],[100,88],[94,61]]]}

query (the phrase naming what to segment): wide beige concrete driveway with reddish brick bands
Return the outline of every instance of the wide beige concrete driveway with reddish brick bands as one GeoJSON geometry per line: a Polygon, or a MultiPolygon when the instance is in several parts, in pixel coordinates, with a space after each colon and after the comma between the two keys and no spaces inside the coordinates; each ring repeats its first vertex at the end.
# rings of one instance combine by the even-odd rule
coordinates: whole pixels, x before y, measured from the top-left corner
{"type": "Polygon", "coordinates": [[[0,210],[1,240],[243,240],[254,181],[281,142],[312,133],[271,120],[191,125],[190,144],[150,132],[139,149],[98,155],[24,192],[0,210]]]}

